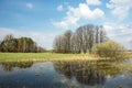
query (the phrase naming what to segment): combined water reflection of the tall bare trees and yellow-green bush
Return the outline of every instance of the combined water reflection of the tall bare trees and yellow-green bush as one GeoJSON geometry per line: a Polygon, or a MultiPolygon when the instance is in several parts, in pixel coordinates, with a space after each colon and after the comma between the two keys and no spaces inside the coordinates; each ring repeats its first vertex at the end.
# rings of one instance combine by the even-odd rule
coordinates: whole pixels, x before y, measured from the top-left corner
{"type": "MultiPolygon", "coordinates": [[[[75,77],[79,82],[86,85],[103,85],[106,78],[117,77],[127,70],[118,65],[125,61],[85,61],[85,62],[55,62],[55,69],[67,78],[75,77]]],[[[125,64],[124,64],[125,65],[125,64]]],[[[124,66],[125,67],[125,66],[124,66]]]]}

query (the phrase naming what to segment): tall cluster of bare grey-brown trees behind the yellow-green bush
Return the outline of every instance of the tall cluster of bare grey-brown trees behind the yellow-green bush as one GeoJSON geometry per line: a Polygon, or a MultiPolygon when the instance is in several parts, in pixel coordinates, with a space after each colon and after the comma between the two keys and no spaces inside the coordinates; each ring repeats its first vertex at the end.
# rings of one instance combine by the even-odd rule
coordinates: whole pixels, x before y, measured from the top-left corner
{"type": "Polygon", "coordinates": [[[74,33],[68,30],[54,38],[56,53],[91,53],[96,44],[108,41],[102,25],[87,24],[79,26],[74,33]]]}

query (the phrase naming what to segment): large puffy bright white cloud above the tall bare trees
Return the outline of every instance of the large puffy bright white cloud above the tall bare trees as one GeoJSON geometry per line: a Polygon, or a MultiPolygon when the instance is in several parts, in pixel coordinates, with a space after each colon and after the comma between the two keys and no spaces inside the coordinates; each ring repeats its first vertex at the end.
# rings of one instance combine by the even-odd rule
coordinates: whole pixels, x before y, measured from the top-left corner
{"type": "Polygon", "coordinates": [[[62,29],[69,29],[72,26],[77,26],[78,21],[84,20],[96,20],[105,16],[105,12],[99,8],[90,10],[87,3],[79,3],[77,8],[68,7],[66,16],[59,22],[53,22],[55,26],[62,29]]]}

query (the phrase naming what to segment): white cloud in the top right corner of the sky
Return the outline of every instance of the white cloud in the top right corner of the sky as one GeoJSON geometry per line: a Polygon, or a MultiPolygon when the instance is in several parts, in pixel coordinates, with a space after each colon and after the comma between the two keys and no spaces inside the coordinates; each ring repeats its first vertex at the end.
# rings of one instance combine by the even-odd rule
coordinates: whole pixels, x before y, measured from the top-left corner
{"type": "Polygon", "coordinates": [[[107,8],[112,9],[111,13],[119,16],[120,20],[123,20],[132,9],[132,0],[110,0],[107,3],[107,8]]]}

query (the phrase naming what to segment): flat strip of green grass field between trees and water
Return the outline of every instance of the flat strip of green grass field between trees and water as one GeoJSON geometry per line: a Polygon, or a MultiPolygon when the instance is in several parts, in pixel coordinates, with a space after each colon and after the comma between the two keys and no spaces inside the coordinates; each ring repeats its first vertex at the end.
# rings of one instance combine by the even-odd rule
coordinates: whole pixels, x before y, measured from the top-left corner
{"type": "Polygon", "coordinates": [[[0,62],[97,59],[90,54],[0,53],[0,62]]]}

